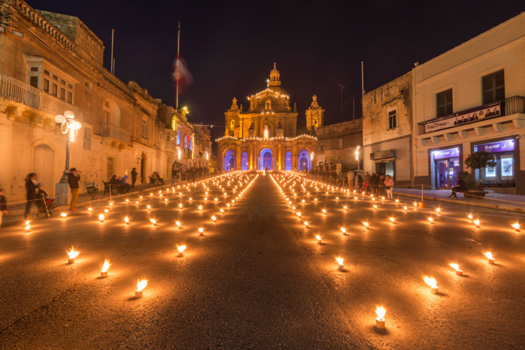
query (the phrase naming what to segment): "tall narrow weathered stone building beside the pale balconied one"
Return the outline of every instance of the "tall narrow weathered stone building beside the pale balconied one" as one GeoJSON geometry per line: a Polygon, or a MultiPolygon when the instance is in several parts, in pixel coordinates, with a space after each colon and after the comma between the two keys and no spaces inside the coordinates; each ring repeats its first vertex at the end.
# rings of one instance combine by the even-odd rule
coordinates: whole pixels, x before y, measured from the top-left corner
{"type": "Polygon", "coordinates": [[[363,170],[412,180],[412,72],[363,96],[363,170]]]}

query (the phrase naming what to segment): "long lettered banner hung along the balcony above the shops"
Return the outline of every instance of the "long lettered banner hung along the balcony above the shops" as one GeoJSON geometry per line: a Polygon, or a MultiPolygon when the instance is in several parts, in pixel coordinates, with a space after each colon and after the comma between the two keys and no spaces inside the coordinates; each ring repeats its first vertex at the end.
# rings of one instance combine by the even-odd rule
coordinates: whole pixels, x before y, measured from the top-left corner
{"type": "Polygon", "coordinates": [[[468,109],[436,120],[429,120],[425,123],[425,132],[438,131],[476,122],[478,120],[501,116],[501,105],[494,102],[481,107],[468,109]]]}

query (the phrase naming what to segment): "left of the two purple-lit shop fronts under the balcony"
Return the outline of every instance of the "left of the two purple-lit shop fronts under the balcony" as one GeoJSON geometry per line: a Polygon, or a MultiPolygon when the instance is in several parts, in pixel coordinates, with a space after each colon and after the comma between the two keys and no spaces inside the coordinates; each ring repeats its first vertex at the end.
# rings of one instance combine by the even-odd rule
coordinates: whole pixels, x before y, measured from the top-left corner
{"type": "Polygon", "coordinates": [[[430,168],[433,186],[443,189],[456,186],[462,169],[460,147],[431,150],[430,168]]]}

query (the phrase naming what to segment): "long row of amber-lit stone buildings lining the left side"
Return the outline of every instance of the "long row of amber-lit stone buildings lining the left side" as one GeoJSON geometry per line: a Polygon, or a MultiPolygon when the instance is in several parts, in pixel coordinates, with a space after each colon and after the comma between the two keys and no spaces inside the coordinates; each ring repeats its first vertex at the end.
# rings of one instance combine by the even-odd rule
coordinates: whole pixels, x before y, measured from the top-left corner
{"type": "Polygon", "coordinates": [[[77,17],[35,10],[22,0],[1,3],[0,186],[9,200],[25,197],[30,172],[54,194],[68,138],[55,116],[65,111],[82,123],[70,142],[69,166],[82,171],[83,184],[102,185],[134,167],[139,181],[153,171],[169,178],[177,160],[191,165],[193,129],[185,114],[111,74],[103,51],[77,17]]]}

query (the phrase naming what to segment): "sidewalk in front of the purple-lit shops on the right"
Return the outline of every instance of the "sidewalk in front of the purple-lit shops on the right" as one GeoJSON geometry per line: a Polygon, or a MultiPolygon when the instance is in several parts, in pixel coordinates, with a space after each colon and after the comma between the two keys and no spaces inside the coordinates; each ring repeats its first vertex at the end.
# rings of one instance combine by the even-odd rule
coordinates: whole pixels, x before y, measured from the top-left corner
{"type": "MultiPolygon", "coordinates": [[[[502,194],[487,191],[485,198],[466,199],[463,194],[458,193],[458,199],[449,198],[450,190],[424,190],[424,200],[454,203],[471,207],[499,209],[517,213],[525,213],[525,196],[517,194],[502,194]]],[[[421,190],[394,188],[394,194],[398,196],[411,197],[421,200],[421,190]]]]}

